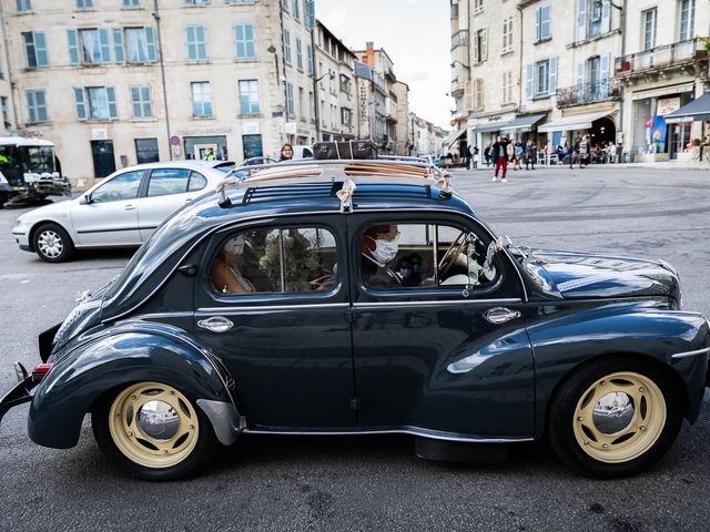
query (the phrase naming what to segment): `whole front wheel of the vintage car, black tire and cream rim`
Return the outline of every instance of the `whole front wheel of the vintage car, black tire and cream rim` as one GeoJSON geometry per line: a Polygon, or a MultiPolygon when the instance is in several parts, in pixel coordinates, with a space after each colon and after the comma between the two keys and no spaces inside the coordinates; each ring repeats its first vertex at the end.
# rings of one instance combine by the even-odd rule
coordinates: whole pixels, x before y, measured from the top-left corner
{"type": "Polygon", "coordinates": [[[550,443],[564,462],[591,477],[636,474],[676,441],[682,405],[679,387],[651,362],[619,357],[588,365],[551,400],[550,443]]]}

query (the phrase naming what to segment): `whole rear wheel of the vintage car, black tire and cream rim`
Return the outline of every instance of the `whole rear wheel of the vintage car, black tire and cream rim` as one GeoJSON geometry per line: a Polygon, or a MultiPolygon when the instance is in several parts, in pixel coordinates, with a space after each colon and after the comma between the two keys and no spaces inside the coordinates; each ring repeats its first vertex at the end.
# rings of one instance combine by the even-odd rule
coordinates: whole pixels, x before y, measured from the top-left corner
{"type": "Polygon", "coordinates": [[[200,408],[161,382],[135,382],[104,396],[91,420],[101,450],[142,479],[195,472],[209,466],[219,448],[200,408]]]}

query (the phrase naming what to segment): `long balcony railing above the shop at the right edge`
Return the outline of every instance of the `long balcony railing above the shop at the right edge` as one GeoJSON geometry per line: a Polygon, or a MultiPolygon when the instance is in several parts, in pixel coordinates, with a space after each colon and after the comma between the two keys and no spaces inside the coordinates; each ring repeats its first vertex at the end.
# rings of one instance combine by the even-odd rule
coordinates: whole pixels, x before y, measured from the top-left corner
{"type": "Polygon", "coordinates": [[[698,40],[690,39],[617,58],[613,71],[617,78],[623,78],[638,72],[693,63],[706,55],[704,48],[698,47],[698,40]]]}

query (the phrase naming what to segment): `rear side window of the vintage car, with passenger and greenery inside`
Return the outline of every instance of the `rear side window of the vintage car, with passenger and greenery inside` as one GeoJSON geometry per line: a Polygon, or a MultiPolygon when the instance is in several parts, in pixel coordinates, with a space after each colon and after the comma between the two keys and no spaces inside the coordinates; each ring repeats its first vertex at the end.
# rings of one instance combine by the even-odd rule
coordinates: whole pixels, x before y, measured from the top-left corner
{"type": "Polygon", "coordinates": [[[210,267],[221,294],[327,291],[337,286],[333,234],[321,227],[263,228],[229,235],[210,267]]]}

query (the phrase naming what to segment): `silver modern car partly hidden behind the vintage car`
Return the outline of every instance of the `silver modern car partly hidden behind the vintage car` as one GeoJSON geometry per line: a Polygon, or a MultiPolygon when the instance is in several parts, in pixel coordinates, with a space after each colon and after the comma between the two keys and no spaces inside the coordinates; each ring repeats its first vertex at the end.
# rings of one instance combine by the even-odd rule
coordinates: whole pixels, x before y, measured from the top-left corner
{"type": "Polygon", "coordinates": [[[74,200],[24,213],[12,236],[20,249],[48,263],[69,260],[77,248],[140,246],[233,166],[229,161],[173,161],[122,168],[74,200]]]}

